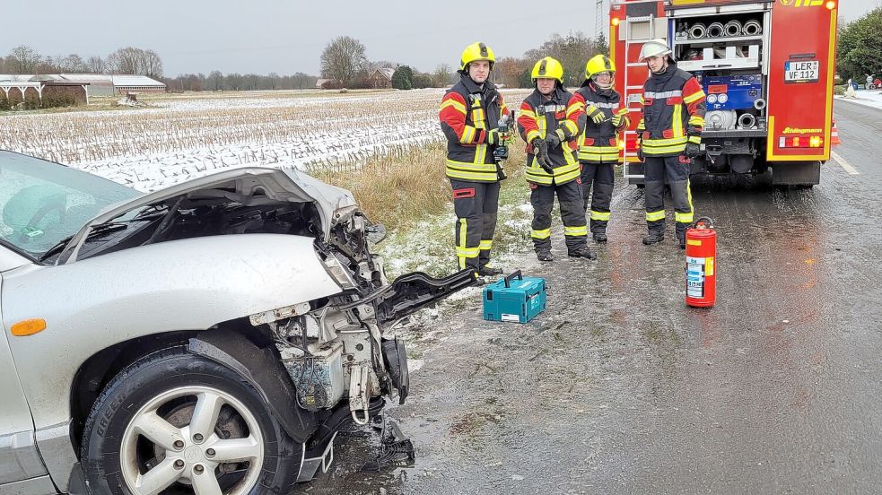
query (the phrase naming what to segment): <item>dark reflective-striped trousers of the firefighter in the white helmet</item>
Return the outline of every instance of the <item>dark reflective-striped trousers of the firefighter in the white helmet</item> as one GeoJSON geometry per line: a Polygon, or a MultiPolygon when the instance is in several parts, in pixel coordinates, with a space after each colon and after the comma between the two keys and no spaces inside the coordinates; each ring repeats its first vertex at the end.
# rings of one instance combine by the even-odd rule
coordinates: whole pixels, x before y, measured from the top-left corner
{"type": "Polygon", "coordinates": [[[692,223],[694,208],[689,187],[689,159],[679,156],[648,156],[643,166],[646,187],[646,225],[650,233],[665,233],[665,183],[670,185],[674,200],[677,239],[686,239],[686,227],[692,223]]]}

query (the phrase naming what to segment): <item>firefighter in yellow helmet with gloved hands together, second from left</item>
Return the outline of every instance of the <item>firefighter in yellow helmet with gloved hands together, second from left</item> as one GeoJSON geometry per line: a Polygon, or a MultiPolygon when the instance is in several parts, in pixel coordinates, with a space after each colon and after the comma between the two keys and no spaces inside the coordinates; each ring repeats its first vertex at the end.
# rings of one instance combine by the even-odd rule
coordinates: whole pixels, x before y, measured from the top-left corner
{"type": "Polygon", "coordinates": [[[530,237],[539,261],[551,255],[551,210],[555,193],[563,219],[567,254],[594,259],[588,247],[588,228],[582,203],[576,141],[585,126],[578,104],[563,88],[563,65],[550,56],[539,60],[531,73],[536,90],[520,106],[518,128],[527,144],[527,181],[533,204],[530,237]]]}

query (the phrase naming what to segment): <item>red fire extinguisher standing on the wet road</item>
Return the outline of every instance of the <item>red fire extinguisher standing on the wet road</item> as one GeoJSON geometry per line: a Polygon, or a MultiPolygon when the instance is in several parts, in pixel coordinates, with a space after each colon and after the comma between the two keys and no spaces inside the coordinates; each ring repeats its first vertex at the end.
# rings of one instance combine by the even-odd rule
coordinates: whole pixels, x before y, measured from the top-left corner
{"type": "Polygon", "coordinates": [[[686,230],[686,304],[710,308],[717,299],[717,232],[702,217],[686,230]]]}

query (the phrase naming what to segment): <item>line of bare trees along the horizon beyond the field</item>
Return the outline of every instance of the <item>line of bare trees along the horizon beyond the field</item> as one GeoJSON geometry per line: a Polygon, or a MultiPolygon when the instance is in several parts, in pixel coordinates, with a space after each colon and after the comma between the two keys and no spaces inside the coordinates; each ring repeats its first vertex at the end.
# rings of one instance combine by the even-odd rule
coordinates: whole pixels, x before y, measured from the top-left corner
{"type": "MultiPolygon", "coordinates": [[[[458,49],[451,46],[451,59],[458,49]]],[[[437,65],[431,72],[421,72],[413,65],[389,60],[370,61],[367,49],[358,39],[347,36],[332,39],[320,56],[321,78],[329,80],[327,88],[371,88],[371,74],[377,69],[393,70],[392,86],[400,90],[446,87],[458,79],[458,66],[437,65]]],[[[554,56],[563,63],[568,86],[578,86],[583,79],[585,62],[598,53],[608,53],[607,40],[602,36],[591,39],[581,32],[566,36],[555,34],[538,48],[523,56],[502,56],[497,53],[493,81],[506,87],[532,87],[530,70],[543,56],[554,56]]],[[[22,45],[0,56],[0,74],[137,74],[165,83],[169,91],[267,91],[304,90],[315,88],[319,76],[294,73],[270,74],[179,74],[165,77],[162,58],[151,49],[126,47],[107,56],[83,57],[43,56],[35,48],[22,45]]]]}

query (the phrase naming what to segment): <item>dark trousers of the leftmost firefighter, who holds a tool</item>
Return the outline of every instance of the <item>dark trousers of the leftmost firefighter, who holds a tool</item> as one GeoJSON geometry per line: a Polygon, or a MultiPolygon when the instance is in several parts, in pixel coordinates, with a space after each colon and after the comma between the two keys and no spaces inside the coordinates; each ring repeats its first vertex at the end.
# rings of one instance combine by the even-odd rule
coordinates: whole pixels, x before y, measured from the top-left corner
{"type": "Polygon", "coordinates": [[[453,209],[457,214],[454,228],[457,262],[460,269],[475,271],[490,262],[496,213],[499,209],[499,182],[466,182],[450,179],[453,209]]]}

